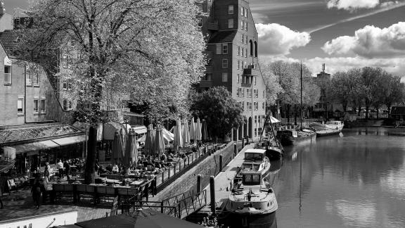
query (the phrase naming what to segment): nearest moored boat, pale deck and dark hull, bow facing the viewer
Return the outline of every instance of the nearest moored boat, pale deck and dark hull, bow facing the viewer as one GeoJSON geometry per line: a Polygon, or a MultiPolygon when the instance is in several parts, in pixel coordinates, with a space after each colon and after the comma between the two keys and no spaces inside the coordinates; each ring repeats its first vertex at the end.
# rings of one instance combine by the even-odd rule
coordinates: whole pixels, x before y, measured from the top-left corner
{"type": "MultiPolygon", "coordinates": [[[[264,155],[264,151],[260,151],[264,155]]],[[[266,172],[243,167],[233,179],[233,189],[226,204],[231,216],[227,226],[271,227],[275,223],[278,208],[276,195],[264,183],[262,173],[266,172]]]]}

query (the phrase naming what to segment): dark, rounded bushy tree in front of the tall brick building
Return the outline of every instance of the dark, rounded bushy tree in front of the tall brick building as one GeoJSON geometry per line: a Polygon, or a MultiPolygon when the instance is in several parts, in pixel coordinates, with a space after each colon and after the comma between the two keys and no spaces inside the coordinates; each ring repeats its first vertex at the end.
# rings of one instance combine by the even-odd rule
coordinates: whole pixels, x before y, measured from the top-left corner
{"type": "Polygon", "coordinates": [[[225,87],[212,87],[194,94],[191,113],[207,122],[212,137],[225,138],[233,127],[243,125],[243,108],[225,87]]]}

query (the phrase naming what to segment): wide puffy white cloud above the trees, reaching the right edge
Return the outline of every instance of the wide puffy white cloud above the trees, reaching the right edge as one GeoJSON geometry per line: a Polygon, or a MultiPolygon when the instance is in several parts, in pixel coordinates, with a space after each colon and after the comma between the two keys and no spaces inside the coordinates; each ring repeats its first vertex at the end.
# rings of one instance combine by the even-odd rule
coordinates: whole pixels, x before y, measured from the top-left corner
{"type": "Polygon", "coordinates": [[[338,37],[322,47],[328,54],[356,54],[366,58],[405,56],[405,22],[380,29],[373,25],[357,30],[354,37],[338,37]]]}

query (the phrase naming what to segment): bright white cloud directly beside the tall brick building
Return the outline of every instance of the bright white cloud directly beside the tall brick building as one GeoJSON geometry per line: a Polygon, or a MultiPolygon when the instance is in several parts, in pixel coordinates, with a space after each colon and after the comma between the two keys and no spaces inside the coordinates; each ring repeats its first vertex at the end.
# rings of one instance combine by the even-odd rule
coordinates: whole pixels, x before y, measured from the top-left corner
{"type": "Polygon", "coordinates": [[[311,41],[307,32],[295,32],[278,24],[256,24],[259,33],[259,53],[278,56],[290,53],[291,49],[305,46],[311,41]]]}

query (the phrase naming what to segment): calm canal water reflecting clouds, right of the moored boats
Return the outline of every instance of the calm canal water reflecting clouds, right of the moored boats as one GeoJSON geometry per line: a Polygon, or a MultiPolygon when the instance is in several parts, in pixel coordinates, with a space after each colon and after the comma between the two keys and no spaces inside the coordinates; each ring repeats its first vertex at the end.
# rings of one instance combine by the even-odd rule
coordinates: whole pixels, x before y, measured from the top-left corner
{"type": "Polygon", "coordinates": [[[286,147],[266,177],[277,227],[405,227],[404,132],[345,129],[286,147]]]}

